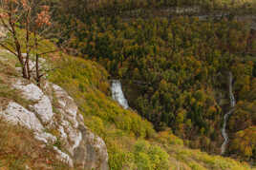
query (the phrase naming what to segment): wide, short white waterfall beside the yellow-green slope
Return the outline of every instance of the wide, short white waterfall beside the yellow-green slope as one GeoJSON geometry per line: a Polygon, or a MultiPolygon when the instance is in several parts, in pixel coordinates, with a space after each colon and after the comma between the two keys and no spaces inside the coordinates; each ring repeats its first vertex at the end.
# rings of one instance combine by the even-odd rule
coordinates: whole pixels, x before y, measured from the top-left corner
{"type": "Polygon", "coordinates": [[[112,98],[115,101],[117,101],[118,104],[120,104],[125,109],[129,108],[127,100],[125,99],[125,97],[123,95],[123,92],[121,89],[121,83],[119,80],[112,81],[111,92],[112,92],[112,98]]]}

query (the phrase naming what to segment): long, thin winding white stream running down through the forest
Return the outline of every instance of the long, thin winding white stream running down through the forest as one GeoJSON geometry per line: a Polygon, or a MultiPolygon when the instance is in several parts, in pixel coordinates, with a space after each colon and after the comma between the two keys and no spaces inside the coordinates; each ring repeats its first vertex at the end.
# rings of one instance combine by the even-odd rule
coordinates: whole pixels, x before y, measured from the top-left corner
{"type": "Polygon", "coordinates": [[[235,97],[233,94],[232,82],[233,82],[233,75],[231,72],[229,72],[229,99],[230,99],[231,109],[224,115],[224,125],[222,128],[222,135],[224,137],[224,143],[222,144],[221,155],[224,155],[226,144],[228,142],[228,136],[227,136],[227,133],[225,132],[226,122],[228,120],[229,115],[234,111],[234,106],[236,105],[236,100],[235,100],[235,97]]]}

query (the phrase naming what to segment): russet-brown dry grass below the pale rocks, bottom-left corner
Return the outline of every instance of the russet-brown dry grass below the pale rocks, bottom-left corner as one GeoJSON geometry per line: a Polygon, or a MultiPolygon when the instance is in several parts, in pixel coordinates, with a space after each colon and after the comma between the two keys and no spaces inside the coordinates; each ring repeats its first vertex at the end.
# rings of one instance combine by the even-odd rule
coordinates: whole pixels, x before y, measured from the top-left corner
{"type": "Polygon", "coordinates": [[[30,130],[0,120],[0,169],[69,169],[52,147],[34,140],[30,130]]]}

